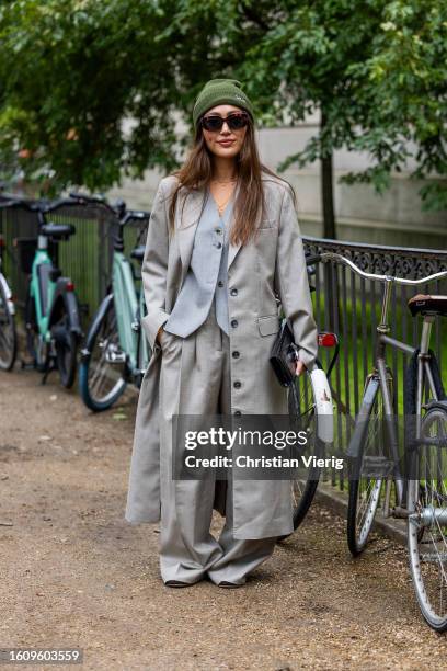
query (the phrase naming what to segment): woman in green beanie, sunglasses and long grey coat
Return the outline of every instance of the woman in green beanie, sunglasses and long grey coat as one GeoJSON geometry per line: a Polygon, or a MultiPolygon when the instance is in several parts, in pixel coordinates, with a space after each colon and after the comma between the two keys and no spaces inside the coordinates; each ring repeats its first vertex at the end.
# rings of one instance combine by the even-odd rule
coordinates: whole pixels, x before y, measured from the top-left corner
{"type": "Polygon", "coordinates": [[[173,414],[285,414],[268,362],[277,298],[299,349],[297,375],[317,355],[317,328],[295,197],[260,163],[252,105],[240,82],[199,93],[194,146],[159,184],[142,262],[153,350],[136,417],[126,520],[161,516],[169,587],[209,578],[239,587],[293,531],[288,481],[172,478],[173,414]],[[217,486],[218,485],[218,486],[217,486]],[[213,509],[226,515],[219,539],[213,509]],[[161,509],[161,510],[160,510],[161,509]]]}

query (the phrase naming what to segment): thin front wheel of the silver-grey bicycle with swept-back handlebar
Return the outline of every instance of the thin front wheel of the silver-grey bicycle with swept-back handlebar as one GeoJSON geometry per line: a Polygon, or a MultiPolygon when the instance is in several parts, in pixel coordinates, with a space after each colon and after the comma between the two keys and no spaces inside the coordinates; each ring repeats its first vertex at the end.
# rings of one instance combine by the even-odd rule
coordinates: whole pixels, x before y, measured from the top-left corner
{"type": "MultiPolygon", "coordinates": [[[[374,377],[369,383],[375,380],[374,377]]],[[[374,384],[377,384],[375,380],[374,384]]],[[[366,389],[365,389],[366,394],[366,389]]],[[[368,542],[382,489],[382,469],[388,463],[385,450],[383,396],[378,386],[370,413],[365,418],[360,454],[355,458],[348,482],[347,545],[355,557],[368,542]]]]}

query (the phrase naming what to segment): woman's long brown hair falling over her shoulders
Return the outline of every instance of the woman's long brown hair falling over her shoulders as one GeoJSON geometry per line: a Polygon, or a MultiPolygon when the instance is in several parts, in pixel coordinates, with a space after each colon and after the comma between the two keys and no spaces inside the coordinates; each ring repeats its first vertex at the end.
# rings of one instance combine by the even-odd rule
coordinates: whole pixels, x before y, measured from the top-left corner
{"type": "MultiPolygon", "coordinates": [[[[254,137],[254,124],[250,114],[249,120],[244,141],[236,159],[239,193],[233,208],[234,223],[230,230],[230,241],[233,244],[238,242],[245,244],[254,235],[260,205],[262,207],[262,216],[264,216],[266,206],[261,179],[262,172],[282,180],[288,185],[291,191],[294,204],[296,205],[296,195],[291,184],[261,163],[254,137]]],[[[171,232],[174,231],[174,216],[179,191],[182,187],[190,191],[205,190],[208,187],[213,177],[213,153],[206,145],[200,124],[197,125],[194,144],[185,162],[180,170],[176,170],[172,174],[177,178],[179,183],[172,194],[172,201],[169,208],[171,232]]]]}

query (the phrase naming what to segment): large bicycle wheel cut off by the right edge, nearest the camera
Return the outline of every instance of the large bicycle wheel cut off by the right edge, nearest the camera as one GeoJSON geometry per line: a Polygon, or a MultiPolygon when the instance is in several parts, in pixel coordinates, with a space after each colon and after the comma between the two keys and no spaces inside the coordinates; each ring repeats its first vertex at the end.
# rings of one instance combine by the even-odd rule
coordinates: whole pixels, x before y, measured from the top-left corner
{"type": "Polygon", "coordinates": [[[410,471],[409,560],[421,612],[436,632],[447,630],[447,405],[429,409],[410,471]]]}

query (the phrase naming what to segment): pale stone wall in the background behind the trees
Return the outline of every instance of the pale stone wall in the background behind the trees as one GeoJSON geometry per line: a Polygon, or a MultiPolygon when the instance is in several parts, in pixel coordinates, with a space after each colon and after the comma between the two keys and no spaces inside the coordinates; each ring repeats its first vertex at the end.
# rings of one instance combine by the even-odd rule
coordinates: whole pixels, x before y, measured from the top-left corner
{"type": "MultiPolygon", "coordinates": [[[[301,150],[317,130],[316,116],[294,128],[260,130],[257,139],[263,162],[276,170],[284,158],[301,150]]],[[[411,163],[406,172],[392,177],[391,187],[383,195],[376,194],[369,185],[337,183],[340,175],[362,170],[368,164],[368,157],[359,152],[342,150],[334,156],[337,238],[377,244],[447,249],[447,212],[422,212],[417,194],[421,182],[409,179],[409,171],[413,168],[411,163]]],[[[303,170],[290,168],[282,175],[296,189],[302,232],[317,237],[322,235],[319,171],[319,163],[316,162],[303,170]]],[[[122,187],[113,190],[108,195],[124,197],[131,207],[150,209],[160,177],[156,171],[148,171],[144,180],[124,180],[122,187]]]]}

